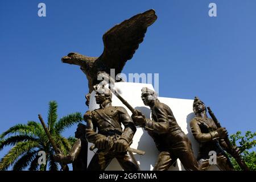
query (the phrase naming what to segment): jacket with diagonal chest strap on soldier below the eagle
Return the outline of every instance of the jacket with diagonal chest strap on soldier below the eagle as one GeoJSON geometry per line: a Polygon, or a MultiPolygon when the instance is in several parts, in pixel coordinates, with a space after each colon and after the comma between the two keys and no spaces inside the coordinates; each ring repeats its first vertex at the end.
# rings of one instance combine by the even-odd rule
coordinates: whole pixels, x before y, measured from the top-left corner
{"type": "Polygon", "coordinates": [[[112,106],[108,100],[100,106],[100,109],[91,111],[85,119],[87,121],[86,138],[91,143],[95,143],[102,135],[113,136],[114,140],[122,138],[131,143],[136,131],[133,120],[126,109],[112,106]],[[125,127],[123,130],[121,123],[125,127]]]}

